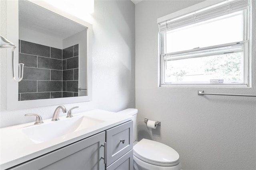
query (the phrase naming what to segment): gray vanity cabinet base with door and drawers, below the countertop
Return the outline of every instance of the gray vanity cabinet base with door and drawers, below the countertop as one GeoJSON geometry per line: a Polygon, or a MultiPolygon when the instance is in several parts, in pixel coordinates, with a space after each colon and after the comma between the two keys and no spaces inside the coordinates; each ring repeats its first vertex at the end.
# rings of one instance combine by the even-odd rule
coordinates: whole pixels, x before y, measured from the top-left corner
{"type": "Polygon", "coordinates": [[[132,138],[133,121],[128,121],[8,170],[132,170],[132,138]]]}

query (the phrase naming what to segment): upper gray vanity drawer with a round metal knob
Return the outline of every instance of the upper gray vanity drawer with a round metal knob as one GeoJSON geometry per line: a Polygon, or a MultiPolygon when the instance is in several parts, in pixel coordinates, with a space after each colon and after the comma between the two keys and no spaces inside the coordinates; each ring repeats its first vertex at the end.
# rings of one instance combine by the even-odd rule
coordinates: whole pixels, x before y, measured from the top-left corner
{"type": "Polygon", "coordinates": [[[106,167],[126,154],[133,147],[133,121],[106,130],[106,167]],[[123,141],[123,142],[122,142],[123,141]]]}

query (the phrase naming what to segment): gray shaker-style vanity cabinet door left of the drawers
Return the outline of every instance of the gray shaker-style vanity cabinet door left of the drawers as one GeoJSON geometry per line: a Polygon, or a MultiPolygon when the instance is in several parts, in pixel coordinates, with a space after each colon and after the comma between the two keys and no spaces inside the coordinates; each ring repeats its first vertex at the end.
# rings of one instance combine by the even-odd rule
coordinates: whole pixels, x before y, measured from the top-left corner
{"type": "Polygon", "coordinates": [[[105,132],[15,166],[13,170],[104,170],[105,132]]]}

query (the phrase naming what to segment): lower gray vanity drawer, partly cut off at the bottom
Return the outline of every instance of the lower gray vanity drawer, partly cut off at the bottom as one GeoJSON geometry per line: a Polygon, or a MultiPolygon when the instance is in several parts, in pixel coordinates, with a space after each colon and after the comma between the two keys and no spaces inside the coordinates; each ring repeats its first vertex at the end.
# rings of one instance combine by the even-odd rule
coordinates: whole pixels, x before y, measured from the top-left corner
{"type": "Polygon", "coordinates": [[[108,166],[106,170],[133,170],[133,149],[108,166]]]}

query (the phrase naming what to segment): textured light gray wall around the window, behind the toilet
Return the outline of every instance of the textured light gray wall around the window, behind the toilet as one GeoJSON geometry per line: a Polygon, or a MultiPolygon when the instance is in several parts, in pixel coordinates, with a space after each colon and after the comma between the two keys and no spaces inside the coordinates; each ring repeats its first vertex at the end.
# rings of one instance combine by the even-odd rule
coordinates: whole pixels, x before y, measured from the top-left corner
{"type": "Polygon", "coordinates": [[[256,94],[256,1],[253,88],[158,88],[157,18],[199,2],[144,0],[135,6],[138,139],[174,148],[184,170],[256,169],[256,98],[197,95],[197,90],[256,94]],[[161,126],[151,131],[144,118],[159,120],[161,126]]]}

